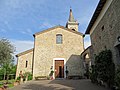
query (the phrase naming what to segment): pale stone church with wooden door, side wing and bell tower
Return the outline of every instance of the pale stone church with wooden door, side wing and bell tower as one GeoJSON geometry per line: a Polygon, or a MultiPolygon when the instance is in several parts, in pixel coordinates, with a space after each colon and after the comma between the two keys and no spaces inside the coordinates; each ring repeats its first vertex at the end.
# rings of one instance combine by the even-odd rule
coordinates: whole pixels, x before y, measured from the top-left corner
{"type": "Polygon", "coordinates": [[[55,26],[35,33],[34,48],[16,55],[16,77],[20,72],[31,72],[33,78],[49,76],[52,70],[53,78],[66,78],[66,70],[68,76],[82,76],[80,54],[84,51],[84,43],[78,25],[70,9],[65,27],[55,26]]]}

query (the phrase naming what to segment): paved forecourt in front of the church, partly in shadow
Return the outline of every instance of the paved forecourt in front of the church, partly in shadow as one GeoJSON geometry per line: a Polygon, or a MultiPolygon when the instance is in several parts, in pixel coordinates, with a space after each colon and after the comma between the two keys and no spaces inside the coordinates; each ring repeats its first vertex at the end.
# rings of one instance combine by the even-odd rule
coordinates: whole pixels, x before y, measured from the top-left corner
{"type": "Polygon", "coordinates": [[[90,80],[39,80],[18,85],[9,90],[109,90],[90,80]]]}

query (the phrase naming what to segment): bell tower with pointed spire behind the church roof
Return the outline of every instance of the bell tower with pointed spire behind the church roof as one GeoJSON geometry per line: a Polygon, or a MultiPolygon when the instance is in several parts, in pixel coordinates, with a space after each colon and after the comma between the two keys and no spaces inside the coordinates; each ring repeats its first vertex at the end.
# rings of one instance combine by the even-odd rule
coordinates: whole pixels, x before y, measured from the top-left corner
{"type": "Polygon", "coordinates": [[[72,29],[73,31],[78,31],[78,25],[79,23],[74,20],[72,9],[70,9],[70,15],[68,22],[66,23],[66,28],[72,29]]]}

